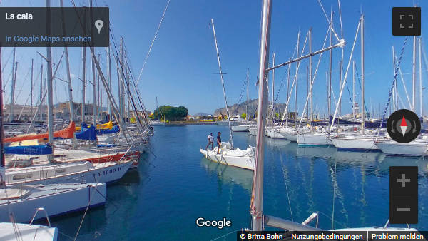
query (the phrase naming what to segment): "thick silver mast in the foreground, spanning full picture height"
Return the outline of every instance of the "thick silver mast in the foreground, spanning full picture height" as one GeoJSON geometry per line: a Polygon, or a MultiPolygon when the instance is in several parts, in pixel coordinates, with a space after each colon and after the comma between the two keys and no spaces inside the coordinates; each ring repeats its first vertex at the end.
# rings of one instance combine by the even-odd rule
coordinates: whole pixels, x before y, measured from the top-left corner
{"type": "Polygon", "coordinates": [[[253,231],[263,230],[263,163],[265,153],[265,125],[266,110],[265,97],[267,91],[267,71],[269,63],[269,41],[270,41],[270,13],[272,1],[263,0],[262,28],[260,39],[260,65],[259,65],[259,98],[257,116],[257,142],[255,151],[255,170],[253,176],[253,201],[251,203],[251,214],[253,215],[253,231]]]}

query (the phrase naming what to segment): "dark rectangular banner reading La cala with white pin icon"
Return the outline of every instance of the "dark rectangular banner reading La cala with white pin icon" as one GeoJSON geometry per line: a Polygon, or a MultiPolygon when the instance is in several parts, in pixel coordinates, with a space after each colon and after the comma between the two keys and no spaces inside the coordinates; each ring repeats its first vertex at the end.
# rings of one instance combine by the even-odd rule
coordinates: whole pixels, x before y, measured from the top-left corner
{"type": "Polygon", "coordinates": [[[107,7],[0,8],[3,47],[107,47],[107,7]]]}

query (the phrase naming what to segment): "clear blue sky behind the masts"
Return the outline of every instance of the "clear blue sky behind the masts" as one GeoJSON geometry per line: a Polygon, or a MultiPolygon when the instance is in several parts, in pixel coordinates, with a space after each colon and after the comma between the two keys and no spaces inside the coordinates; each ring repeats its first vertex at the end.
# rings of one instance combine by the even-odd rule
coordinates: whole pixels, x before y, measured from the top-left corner
{"type": "MultiPolygon", "coordinates": [[[[89,0],[76,0],[77,6],[88,6],[89,0]]],[[[131,56],[133,73],[138,76],[143,66],[144,58],[153,39],[158,23],[167,0],[156,1],[108,1],[93,0],[94,6],[109,6],[113,33],[118,41],[123,36],[131,56]]],[[[340,35],[340,19],[337,1],[322,0],[322,5],[330,16],[330,10],[334,11],[335,31],[340,35]]],[[[44,6],[46,1],[32,0],[2,0],[0,6],[44,6]]],[[[258,72],[258,50],[260,35],[260,0],[171,0],[168,11],[165,14],[163,25],[158,33],[158,39],[153,45],[151,56],[148,58],[143,71],[140,91],[146,107],[153,111],[156,108],[156,96],[160,105],[186,106],[190,114],[198,112],[213,113],[215,108],[224,106],[223,91],[218,74],[218,64],[215,56],[213,31],[210,19],[215,22],[215,31],[220,48],[220,59],[225,75],[225,88],[229,104],[238,102],[243,90],[245,73],[250,70],[250,98],[257,98],[258,86],[255,86],[258,72]]],[[[392,46],[395,46],[397,55],[402,48],[404,37],[392,36],[392,7],[412,6],[411,0],[342,0],[342,25],[343,37],[347,41],[345,46],[344,66],[346,69],[350,57],[352,41],[355,37],[360,11],[365,14],[365,74],[366,74],[366,106],[369,110],[379,112],[379,106],[384,106],[387,101],[388,88],[392,83],[392,46]]],[[[422,35],[427,31],[428,15],[424,9],[428,4],[424,1],[416,1],[422,6],[422,35]]],[[[71,2],[64,0],[65,6],[71,6],[71,2]]],[[[59,6],[58,0],[52,1],[52,6],[59,6]]],[[[305,38],[307,30],[312,27],[312,50],[322,48],[322,43],[327,32],[327,20],[317,0],[273,0],[272,5],[272,29],[270,39],[270,53],[275,52],[275,63],[282,63],[290,58],[295,50],[297,31],[302,32],[305,38]]],[[[427,43],[428,41],[424,41],[427,43]]],[[[336,43],[337,41],[334,41],[336,43]]],[[[302,48],[300,42],[300,49],[302,48]]],[[[426,46],[426,45],[425,45],[426,46]]],[[[2,51],[2,65],[4,66],[4,83],[6,88],[4,98],[9,103],[11,73],[11,48],[2,51]]],[[[307,53],[306,46],[305,53],[307,53]]],[[[424,49],[423,49],[424,50],[424,49]]],[[[42,63],[39,51],[46,54],[45,48],[18,48],[16,61],[19,62],[16,81],[17,103],[25,103],[29,96],[29,72],[31,58],[34,58],[37,66],[34,71],[34,102],[39,96],[39,68],[42,63]],[[36,77],[37,76],[37,77],[36,77]],[[26,78],[25,78],[26,77],[26,78]]],[[[81,100],[81,48],[70,48],[71,73],[73,74],[73,98],[81,100]]],[[[101,64],[105,68],[106,57],[104,48],[98,48],[101,53],[101,64]]],[[[57,62],[63,52],[63,48],[54,49],[54,62],[57,62]]],[[[333,51],[332,83],[334,96],[339,93],[339,66],[341,49],[333,51]]],[[[312,71],[315,73],[319,56],[312,58],[312,71]]],[[[357,70],[360,72],[360,36],[355,46],[354,58],[357,70]]],[[[89,58],[88,58],[89,60],[89,58]]],[[[272,61],[272,58],[271,58],[272,61]]],[[[90,63],[87,61],[87,63],[90,63]]],[[[308,61],[302,61],[298,78],[298,108],[301,113],[306,100],[306,69],[308,61]]],[[[418,64],[418,63],[417,63],[418,64]]],[[[423,64],[423,86],[426,86],[428,74],[423,64]]],[[[91,65],[86,67],[87,76],[91,76],[91,65]]],[[[113,66],[113,69],[116,66],[113,66]]],[[[328,69],[328,54],[322,56],[320,67],[317,71],[314,83],[314,110],[316,113],[326,113],[326,71],[328,69]]],[[[46,70],[46,67],[45,67],[46,70]]],[[[404,81],[409,95],[412,93],[412,38],[408,39],[402,61],[404,81]]],[[[116,88],[116,73],[113,71],[113,88],[116,88]]],[[[285,103],[287,99],[287,79],[283,67],[275,73],[275,96],[277,101],[285,103]],[[280,88],[280,83],[283,83],[280,88]],[[280,92],[278,93],[278,89],[280,92]]],[[[46,73],[46,71],[44,71],[46,73]]],[[[57,75],[65,78],[66,71],[61,64],[57,75]]],[[[295,66],[292,66],[291,75],[294,76],[295,66]]],[[[352,92],[352,68],[348,76],[348,88],[352,92]]],[[[270,88],[272,79],[270,79],[270,88]]],[[[291,83],[290,83],[291,86],[291,83]]],[[[357,82],[356,93],[360,102],[360,87],[357,82]]],[[[399,96],[402,99],[400,108],[409,108],[407,97],[402,88],[402,81],[398,82],[399,96]]],[[[66,84],[56,80],[54,83],[54,103],[66,101],[66,84]]],[[[417,79],[417,93],[419,93],[419,79],[417,79]]],[[[91,98],[91,87],[87,88],[86,100],[91,98]]],[[[114,91],[116,93],[116,91],[114,91]]],[[[426,93],[426,90],[424,90],[426,93]]],[[[271,91],[269,93],[272,95],[271,91]]],[[[245,93],[243,94],[245,96],[245,93]]],[[[294,95],[293,95],[294,96],[294,95]]],[[[426,96],[426,95],[425,95],[426,96]]],[[[106,96],[104,103],[106,102],[106,96]]],[[[245,98],[245,97],[243,97],[245,98]]],[[[272,98],[272,97],[270,97],[272,98]]],[[[409,96],[412,98],[412,96],[409,96]]],[[[345,87],[342,98],[342,113],[351,112],[350,95],[345,87]]],[[[427,98],[424,98],[424,106],[427,106],[427,98]]],[[[291,98],[294,106],[294,97],[291,98]]],[[[334,106],[334,101],[333,106],[334,106]]],[[[28,102],[29,103],[29,102],[28,102]]],[[[419,96],[417,96],[417,110],[419,110],[419,96]]],[[[427,108],[424,108],[427,109],[427,108]]],[[[418,111],[419,112],[419,111],[418,111]]]]}

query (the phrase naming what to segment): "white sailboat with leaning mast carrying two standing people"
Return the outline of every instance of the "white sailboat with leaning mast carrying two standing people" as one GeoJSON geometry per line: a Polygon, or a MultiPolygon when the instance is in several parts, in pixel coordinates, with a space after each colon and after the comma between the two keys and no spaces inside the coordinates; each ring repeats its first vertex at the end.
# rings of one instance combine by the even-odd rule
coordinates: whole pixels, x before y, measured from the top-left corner
{"type": "MultiPolygon", "coordinates": [[[[223,96],[225,99],[225,105],[226,105],[226,113],[229,115],[229,108],[228,108],[228,101],[226,99],[226,93],[225,93],[225,85],[223,81],[223,72],[221,71],[221,64],[220,64],[220,55],[218,53],[218,45],[217,45],[217,37],[215,36],[215,28],[214,28],[214,21],[211,19],[211,24],[213,26],[213,35],[214,35],[214,41],[215,41],[215,50],[217,51],[217,61],[218,61],[218,68],[220,70],[220,80],[223,87],[223,96]]],[[[205,158],[208,158],[210,160],[213,160],[216,163],[221,163],[224,165],[233,165],[238,168],[245,168],[249,170],[254,170],[255,165],[255,148],[252,146],[249,146],[246,150],[241,150],[239,148],[233,147],[233,130],[230,125],[229,121],[229,130],[230,130],[230,143],[221,143],[221,150],[218,150],[218,147],[215,147],[213,150],[203,150],[200,149],[200,153],[205,156],[205,158]]]]}

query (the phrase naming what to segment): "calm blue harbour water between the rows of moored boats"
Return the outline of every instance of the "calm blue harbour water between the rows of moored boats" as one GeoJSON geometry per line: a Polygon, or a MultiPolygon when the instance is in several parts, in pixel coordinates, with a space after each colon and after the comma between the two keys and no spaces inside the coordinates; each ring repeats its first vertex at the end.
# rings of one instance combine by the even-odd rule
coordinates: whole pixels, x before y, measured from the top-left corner
{"type": "MultiPolygon", "coordinates": [[[[156,127],[154,155],[144,155],[138,171],[108,185],[106,206],[88,212],[78,240],[212,240],[249,227],[253,173],[218,165],[199,153],[206,135],[217,131],[228,140],[228,128],[217,125],[156,127]],[[197,227],[198,217],[227,217],[233,225],[223,230],[197,227]]],[[[248,133],[235,133],[234,140],[239,148],[255,145],[248,133]]],[[[319,211],[325,229],[332,224],[383,226],[389,216],[390,165],[419,166],[419,225],[414,227],[428,230],[427,160],[298,148],[284,140],[267,139],[264,212],[302,222],[319,211]]],[[[76,235],[82,216],[53,220],[60,240],[76,235]]],[[[236,240],[236,235],[218,240],[236,240]]]]}

